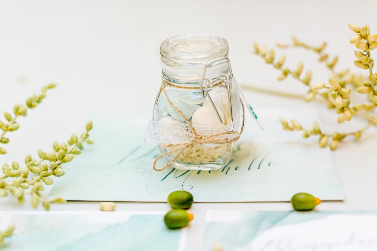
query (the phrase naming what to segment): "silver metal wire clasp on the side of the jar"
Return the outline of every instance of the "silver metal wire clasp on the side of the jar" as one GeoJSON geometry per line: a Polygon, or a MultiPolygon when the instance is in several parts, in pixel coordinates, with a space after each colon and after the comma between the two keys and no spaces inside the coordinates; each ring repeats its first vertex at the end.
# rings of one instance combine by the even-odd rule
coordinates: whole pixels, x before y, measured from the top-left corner
{"type": "Polygon", "coordinates": [[[228,133],[231,133],[231,132],[234,131],[232,102],[231,102],[231,96],[230,96],[232,78],[233,78],[233,73],[232,73],[232,70],[231,70],[231,67],[230,67],[229,59],[228,58],[220,58],[220,59],[216,59],[216,60],[211,61],[210,63],[204,65],[202,78],[200,80],[200,85],[199,85],[202,97],[205,98],[205,97],[208,96],[208,99],[209,99],[209,101],[210,101],[210,103],[213,107],[213,110],[215,110],[216,117],[218,118],[222,128],[228,133]],[[226,63],[228,65],[227,72],[224,75],[213,78],[213,79],[205,78],[205,73],[207,72],[208,67],[214,67],[216,65],[224,64],[224,63],[226,63]],[[222,121],[222,119],[220,117],[219,111],[217,110],[215,103],[213,103],[213,100],[211,99],[211,96],[208,93],[208,91],[210,91],[211,88],[213,87],[213,82],[218,82],[218,81],[223,81],[225,83],[225,85],[227,86],[227,89],[228,89],[228,99],[229,99],[229,104],[230,104],[230,129],[228,129],[224,125],[224,122],[222,121]]]}

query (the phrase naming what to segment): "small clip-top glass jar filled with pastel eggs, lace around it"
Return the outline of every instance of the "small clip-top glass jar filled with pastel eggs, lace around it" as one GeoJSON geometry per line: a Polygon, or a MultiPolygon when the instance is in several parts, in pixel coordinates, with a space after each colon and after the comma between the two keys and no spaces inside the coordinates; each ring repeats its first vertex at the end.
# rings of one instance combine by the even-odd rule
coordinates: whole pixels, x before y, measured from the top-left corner
{"type": "Polygon", "coordinates": [[[166,167],[216,170],[230,162],[240,97],[228,50],[215,35],[180,35],[161,44],[162,85],[148,141],[158,143],[166,167]]]}

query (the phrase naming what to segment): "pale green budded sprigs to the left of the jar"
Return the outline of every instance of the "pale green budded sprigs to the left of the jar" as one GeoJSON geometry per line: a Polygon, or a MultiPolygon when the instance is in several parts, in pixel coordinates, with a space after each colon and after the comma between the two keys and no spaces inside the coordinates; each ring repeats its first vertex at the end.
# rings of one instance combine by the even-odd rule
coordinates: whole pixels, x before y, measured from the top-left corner
{"type": "MultiPolygon", "coordinates": [[[[39,96],[33,95],[26,100],[25,105],[14,106],[14,114],[4,112],[5,119],[8,123],[3,123],[0,121],[0,129],[2,133],[0,135],[0,142],[6,144],[9,142],[8,138],[4,135],[8,131],[15,131],[18,129],[19,125],[16,122],[18,116],[26,116],[26,111],[28,108],[34,108],[41,102],[41,100],[46,96],[46,91],[48,89],[54,88],[55,84],[50,84],[43,87],[42,93],[39,96]]],[[[0,197],[8,196],[8,193],[13,195],[18,199],[20,204],[23,204],[25,194],[32,196],[31,205],[33,208],[37,208],[38,204],[41,203],[45,210],[50,210],[50,204],[54,203],[66,203],[65,199],[54,198],[45,199],[42,198],[41,193],[44,190],[44,184],[52,185],[54,181],[50,176],[54,175],[57,177],[64,175],[64,170],[62,167],[63,163],[68,163],[73,160],[76,155],[81,154],[82,143],[86,142],[92,144],[93,141],[89,139],[89,131],[93,128],[93,122],[89,121],[86,124],[86,129],[80,138],[77,137],[75,133],[72,133],[69,140],[66,142],[58,143],[55,142],[53,145],[54,151],[49,153],[43,150],[38,150],[39,159],[32,158],[30,154],[25,157],[26,166],[20,167],[17,161],[14,161],[11,166],[5,163],[3,164],[2,171],[3,175],[0,175],[0,197]],[[69,145],[69,147],[68,147],[69,145]],[[30,177],[29,174],[36,174],[30,177]]],[[[0,147],[0,154],[6,154],[7,151],[0,147]]],[[[9,237],[12,234],[14,227],[11,226],[5,232],[0,232],[0,243],[3,242],[5,237],[9,237]]]]}

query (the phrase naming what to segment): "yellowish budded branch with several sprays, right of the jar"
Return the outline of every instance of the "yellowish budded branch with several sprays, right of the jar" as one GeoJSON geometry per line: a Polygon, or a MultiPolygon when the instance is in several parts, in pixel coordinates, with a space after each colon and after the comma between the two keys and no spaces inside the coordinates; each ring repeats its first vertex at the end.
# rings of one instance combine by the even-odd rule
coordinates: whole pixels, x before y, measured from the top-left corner
{"type": "MultiPolygon", "coordinates": [[[[361,50],[355,50],[355,56],[358,60],[354,62],[356,67],[369,70],[368,78],[363,78],[360,75],[354,75],[349,73],[349,70],[343,70],[341,72],[336,72],[334,66],[336,65],[338,58],[335,56],[333,59],[329,60],[329,55],[323,53],[323,49],[326,47],[326,43],[322,43],[319,47],[312,47],[308,44],[298,41],[293,38],[293,45],[281,45],[280,48],[288,47],[302,47],[311,50],[319,55],[319,61],[325,62],[326,67],[331,71],[333,75],[328,79],[328,84],[316,83],[311,84],[312,72],[307,70],[304,76],[301,76],[303,70],[303,64],[300,62],[295,70],[290,70],[283,67],[285,56],[280,56],[279,60],[274,62],[275,52],[273,49],[267,53],[267,48],[259,46],[254,43],[254,52],[264,58],[267,64],[273,65],[274,68],[281,71],[281,75],[277,78],[278,80],[285,79],[288,75],[302,82],[302,84],[308,87],[308,92],[305,96],[306,101],[313,100],[316,96],[321,97],[327,103],[329,109],[334,109],[337,117],[337,122],[342,123],[344,121],[350,121],[352,116],[359,116],[368,121],[368,125],[356,132],[348,132],[339,134],[334,132],[332,134],[322,134],[317,126],[314,126],[317,130],[313,133],[314,128],[306,130],[303,137],[309,137],[310,135],[319,135],[319,145],[325,147],[328,145],[329,138],[332,138],[329,145],[332,150],[336,149],[337,143],[342,141],[344,137],[348,135],[353,135],[357,140],[360,138],[361,133],[369,128],[371,125],[377,125],[377,117],[369,115],[368,112],[373,111],[377,105],[377,90],[376,90],[376,80],[377,74],[373,73],[374,59],[371,58],[370,51],[377,48],[377,34],[369,33],[369,26],[366,24],[362,28],[356,26],[353,23],[349,23],[349,28],[355,32],[357,35],[351,38],[350,43],[356,43],[356,48],[361,50]],[[350,88],[346,88],[349,86],[350,88]],[[352,89],[356,89],[358,93],[365,94],[367,102],[357,103],[351,96],[352,89]],[[352,100],[352,102],[351,102],[352,100]]],[[[286,130],[302,130],[300,124],[293,120],[292,126],[282,119],[280,120],[284,129],[286,130]]]]}

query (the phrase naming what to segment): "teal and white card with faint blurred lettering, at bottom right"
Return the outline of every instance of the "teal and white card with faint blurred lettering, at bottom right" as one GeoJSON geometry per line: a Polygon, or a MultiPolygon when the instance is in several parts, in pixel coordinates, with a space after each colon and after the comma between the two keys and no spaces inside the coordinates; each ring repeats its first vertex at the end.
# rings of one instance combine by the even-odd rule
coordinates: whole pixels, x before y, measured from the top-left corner
{"type": "Polygon", "coordinates": [[[374,251],[377,211],[208,210],[204,251],[374,251]]]}

